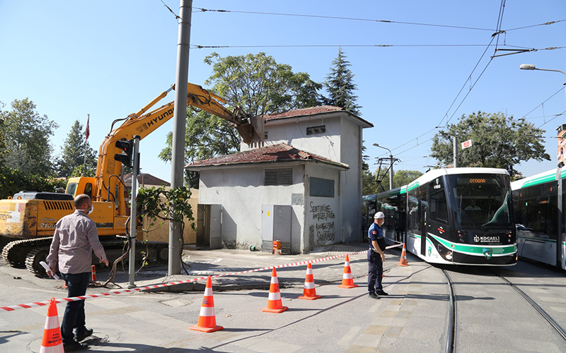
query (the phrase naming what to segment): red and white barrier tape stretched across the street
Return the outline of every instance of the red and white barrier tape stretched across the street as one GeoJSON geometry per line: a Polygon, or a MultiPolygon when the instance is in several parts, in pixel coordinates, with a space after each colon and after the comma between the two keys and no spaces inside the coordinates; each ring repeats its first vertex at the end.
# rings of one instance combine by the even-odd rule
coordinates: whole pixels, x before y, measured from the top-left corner
{"type": "MultiPolygon", "coordinates": [[[[398,245],[388,246],[386,249],[390,249],[390,248],[395,247],[395,246],[398,246],[398,245]]],[[[284,264],[284,265],[276,265],[276,266],[270,266],[270,267],[265,267],[265,268],[256,268],[255,270],[246,270],[246,271],[235,272],[235,273],[224,273],[224,274],[221,274],[221,275],[214,275],[214,276],[211,276],[211,277],[214,278],[214,277],[241,275],[243,273],[252,273],[252,272],[265,271],[265,270],[272,270],[273,268],[294,267],[294,266],[299,266],[299,265],[306,265],[307,263],[318,263],[318,262],[322,262],[322,261],[333,260],[335,258],[342,258],[346,255],[350,255],[350,256],[359,255],[359,254],[362,254],[362,253],[367,253],[367,250],[359,251],[357,253],[349,253],[349,254],[343,254],[343,255],[329,256],[329,257],[326,257],[326,258],[316,258],[314,260],[308,260],[308,261],[300,261],[298,263],[287,263],[287,264],[284,264]]],[[[206,280],[207,278],[208,278],[208,276],[203,276],[203,277],[193,278],[191,280],[162,283],[161,285],[149,285],[149,286],[145,286],[145,287],[136,287],[136,288],[132,288],[132,289],[122,289],[122,290],[117,290],[117,291],[114,291],[114,292],[101,293],[101,294],[88,294],[84,297],[71,297],[71,298],[57,299],[54,302],[55,302],[55,304],[60,304],[60,303],[67,303],[68,301],[79,301],[79,300],[86,300],[86,299],[104,298],[104,297],[108,297],[110,295],[115,295],[115,294],[134,293],[134,292],[140,292],[140,291],[145,290],[145,289],[156,289],[156,288],[163,288],[163,287],[171,287],[171,286],[174,286],[174,285],[181,285],[183,283],[197,282],[197,281],[200,281],[200,280],[206,280]]],[[[30,309],[30,308],[33,308],[35,306],[46,306],[48,304],[50,304],[50,301],[36,301],[35,303],[28,303],[28,304],[18,304],[18,305],[13,305],[13,306],[0,306],[0,312],[15,311],[17,309],[30,309]]]]}

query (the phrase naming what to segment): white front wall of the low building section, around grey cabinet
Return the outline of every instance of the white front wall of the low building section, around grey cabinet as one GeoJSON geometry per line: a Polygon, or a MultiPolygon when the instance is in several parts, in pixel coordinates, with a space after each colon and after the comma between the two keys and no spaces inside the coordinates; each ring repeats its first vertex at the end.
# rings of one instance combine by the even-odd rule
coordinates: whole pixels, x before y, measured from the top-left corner
{"type": "Polygon", "coordinates": [[[200,204],[222,205],[221,239],[230,249],[260,248],[262,205],[292,205],[291,252],[301,253],[304,234],[304,165],[215,167],[200,172],[200,204]],[[264,186],[265,169],[293,168],[293,185],[264,186]],[[293,201],[294,200],[294,201],[293,201]]]}

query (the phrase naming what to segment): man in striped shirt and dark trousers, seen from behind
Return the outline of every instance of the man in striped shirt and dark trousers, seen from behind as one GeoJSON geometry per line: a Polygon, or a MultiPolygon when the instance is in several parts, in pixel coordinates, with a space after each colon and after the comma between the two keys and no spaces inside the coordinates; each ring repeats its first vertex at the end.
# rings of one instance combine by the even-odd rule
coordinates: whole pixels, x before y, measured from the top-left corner
{"type": "MultiPolygon", "coordinates": [[[[93,251],[100,263],[108,266],[108,259],[98,239],[96,223],[88,217],[93,212],[91,198],[86,194],[76,196],[74,207],[74,213],[57,222],[45,261],[52,273],[55,273],[54,269],[59,265],[59,273],[69,287],[68,297],[81,297],[86,294],[88,287],[93,251]]],[[[93,330],[88,330],[85,326],[84,301],[69,301],[61,324],[65,352],[87,349],[88,345],[80,341],[92,333],[93,330]]]]}

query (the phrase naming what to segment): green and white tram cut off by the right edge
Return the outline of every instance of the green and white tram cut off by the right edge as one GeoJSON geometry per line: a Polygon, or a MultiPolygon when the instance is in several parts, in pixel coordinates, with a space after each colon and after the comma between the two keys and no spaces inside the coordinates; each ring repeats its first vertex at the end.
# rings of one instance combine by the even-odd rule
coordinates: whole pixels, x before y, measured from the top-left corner
{"type": "Polygon", "coordinates": [[[521,258],[566,270],[565,187],[566,168],[511,183],[521,258]]]}

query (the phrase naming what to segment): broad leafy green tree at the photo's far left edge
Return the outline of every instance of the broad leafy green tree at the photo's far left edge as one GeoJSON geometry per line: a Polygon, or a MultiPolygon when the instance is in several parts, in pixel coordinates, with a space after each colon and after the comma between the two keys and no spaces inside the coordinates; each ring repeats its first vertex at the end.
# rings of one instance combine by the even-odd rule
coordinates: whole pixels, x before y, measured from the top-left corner
{"type": "Polygon", "coordinates": [[[0,112],[1,133],[6,143],[4,164],[28,174],[52,175],[49,139],[59,126],[47,115],[40,116],[28,98],[14,100],[11,107],[11,111],[0,112]]]}

